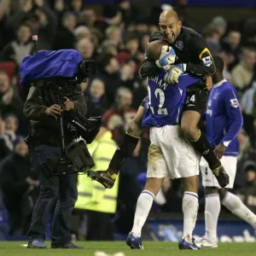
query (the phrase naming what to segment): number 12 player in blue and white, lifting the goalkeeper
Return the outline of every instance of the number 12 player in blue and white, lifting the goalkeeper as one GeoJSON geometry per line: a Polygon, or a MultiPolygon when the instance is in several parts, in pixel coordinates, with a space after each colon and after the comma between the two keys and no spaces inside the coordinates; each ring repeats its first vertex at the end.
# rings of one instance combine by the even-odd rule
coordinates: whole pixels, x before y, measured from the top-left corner
{"type": "MultiPolygon", "coordinates": [[[[148,44],[150,60],[158,60],[163,44],[160,40],[148,44]]],[[[165,177],[181,178],[183,182],[183,237],[180,249],[198,250],[192,237],[198,210],[198,175],[200,154],[195,152],[183,136],[179,120],[185,102],[185,79],[194,84],[199,78],[186,75],[178,84],[163,81],[165,69],[148,77],[148,97],[145,100],[143,126],[149,127],[148,169],[145,188],[137,200],[132,230],[126,243],[132,249],[143,248],[141,232],[148,218],[154,196],[158,194],[165,177]]],[[[130,132],[131,134],[131,132],[130,132]]]]}

